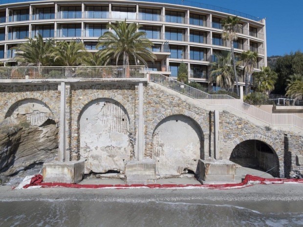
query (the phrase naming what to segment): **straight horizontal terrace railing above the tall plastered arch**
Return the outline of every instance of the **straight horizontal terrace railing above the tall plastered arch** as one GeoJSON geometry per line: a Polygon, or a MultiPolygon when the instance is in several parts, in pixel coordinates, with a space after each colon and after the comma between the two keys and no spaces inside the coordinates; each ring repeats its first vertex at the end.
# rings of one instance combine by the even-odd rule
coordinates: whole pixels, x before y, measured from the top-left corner
{"type": "Polygon", "coordinates": [[[145,66],[0,67],[0,79],[144,78],[145,66]]]}

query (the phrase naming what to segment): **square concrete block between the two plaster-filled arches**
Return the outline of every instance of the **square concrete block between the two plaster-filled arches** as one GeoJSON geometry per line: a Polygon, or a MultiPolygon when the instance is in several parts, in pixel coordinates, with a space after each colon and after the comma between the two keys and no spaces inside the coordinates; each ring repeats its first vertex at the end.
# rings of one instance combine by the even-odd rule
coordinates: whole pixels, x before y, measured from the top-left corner
{"type": "Polygon", "coordinates": [[[142,161],[128,161],[125,165],[125,183],[154,184],[156,182],[156,162],[145,158],[142,161]]]}

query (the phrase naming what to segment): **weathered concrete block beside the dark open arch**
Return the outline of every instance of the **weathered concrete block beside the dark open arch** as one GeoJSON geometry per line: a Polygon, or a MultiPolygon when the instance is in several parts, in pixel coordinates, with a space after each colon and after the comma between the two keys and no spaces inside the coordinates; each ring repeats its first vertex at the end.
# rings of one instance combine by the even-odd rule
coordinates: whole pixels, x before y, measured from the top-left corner
{"type": "Polygon", "coordinates": [[[200,182],[233,182],[236,179],[236,165],[228,160],[199,160],[200,182]]]}

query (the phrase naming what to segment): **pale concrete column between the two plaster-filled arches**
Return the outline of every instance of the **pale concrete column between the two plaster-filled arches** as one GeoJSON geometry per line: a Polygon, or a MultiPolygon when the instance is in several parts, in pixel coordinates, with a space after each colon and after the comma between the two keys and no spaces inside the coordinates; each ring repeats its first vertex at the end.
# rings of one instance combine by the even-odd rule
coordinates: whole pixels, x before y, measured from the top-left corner
{"type": "Polygon", "coordinates": [[[138,92],[139,92],[139,119],[138,119],[138,141],[137,141],[138,157],[137,158],[138,161],[142,161],[144,156],[143,82],[139,83],[138,92]]]}

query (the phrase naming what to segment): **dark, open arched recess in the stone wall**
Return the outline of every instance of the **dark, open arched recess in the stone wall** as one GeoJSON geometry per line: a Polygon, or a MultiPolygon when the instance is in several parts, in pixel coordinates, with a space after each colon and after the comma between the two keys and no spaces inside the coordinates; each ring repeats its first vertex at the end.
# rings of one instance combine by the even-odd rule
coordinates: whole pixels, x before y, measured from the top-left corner
{"type": "Polygon", "coordinates": [[[233,149],[230,161],[239,167],[261,170],[273,177],[279,177],[279,159],[276,152],[270,145],[259,140],[247,140],[238,144],[233,149]]]}

